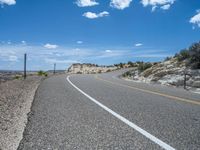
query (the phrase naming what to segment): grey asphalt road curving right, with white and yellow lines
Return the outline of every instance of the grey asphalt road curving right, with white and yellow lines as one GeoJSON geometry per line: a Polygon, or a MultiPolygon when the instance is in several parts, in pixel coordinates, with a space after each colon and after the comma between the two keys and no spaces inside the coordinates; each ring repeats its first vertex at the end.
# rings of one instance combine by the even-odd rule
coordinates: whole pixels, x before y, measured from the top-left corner
{"type": "Polygon", "coordinates": [[[43,81],[18,149],[200,149],[200,95],[120,74],[43,81]]]}

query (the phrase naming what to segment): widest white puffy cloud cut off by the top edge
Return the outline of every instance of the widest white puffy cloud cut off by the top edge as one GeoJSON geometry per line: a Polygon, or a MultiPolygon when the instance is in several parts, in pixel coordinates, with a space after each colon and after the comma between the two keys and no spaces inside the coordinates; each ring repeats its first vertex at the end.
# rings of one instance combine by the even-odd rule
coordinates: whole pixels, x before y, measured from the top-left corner
{"type": "Polygon", "coordinates": [[[157,7],[168,10],[176,0],[141,0],[144,7],[152,6],[152,11],[155,11],[157,7]]]}

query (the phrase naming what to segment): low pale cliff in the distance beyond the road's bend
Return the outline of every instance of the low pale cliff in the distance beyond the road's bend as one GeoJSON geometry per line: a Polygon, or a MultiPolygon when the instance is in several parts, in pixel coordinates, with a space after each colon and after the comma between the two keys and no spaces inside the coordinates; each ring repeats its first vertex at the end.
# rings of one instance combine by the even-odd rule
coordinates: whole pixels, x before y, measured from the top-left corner
{"type": "Polygon", "coordinates": [[[117,67],[97,66],[94,64],[73,64],[68,69],[68,72],[75,74],[96,74],[116,70],[117,67]]]}

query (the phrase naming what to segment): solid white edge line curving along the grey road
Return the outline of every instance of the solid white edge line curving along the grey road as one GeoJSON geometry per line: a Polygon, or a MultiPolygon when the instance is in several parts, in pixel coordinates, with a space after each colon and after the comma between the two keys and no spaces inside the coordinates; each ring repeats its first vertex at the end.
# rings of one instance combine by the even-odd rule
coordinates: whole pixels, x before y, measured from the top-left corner
{"type": "Polygon", "coordinates": [[[161,141],[160,139],[158,139],[157,137],[151,135],[150,133],[148,133],[147,131],[145,131],[144,129],[140,128],[139,126],[137,126],[136,124],[130,122],[129,120],[127,120],[126,118],[120,116],[119,114],[117,114],[116,112],[114,112],[113,110],[111,110],[110,108],[106,107],[105,105],[101,104],[100,102],[98,102],[96,99],[92,98],[90,95],[86,94],[85,92],[83,92],[81,89],[79,89],[76,85],[74,85],[71,81],[70,81],[70,76],[68,76],[66,79],[67,81],[75,88],[77,89],[80,93],[82,93],[83,95],[85,95],[87,98],[89,98],[91,101],[93,101],[94,103],[96,103],[97,105],[99,105],[101,108],[103,108],[104,110],[106,110],[107,112],[109,112],[110,114],[112,114],[113,116],[115,116],[116,118],[118,118],[119,120],[121,120],[122,122],[124,122],[125,124],[127,124],[128,126],[130,126],[131,128],[135,129],[136,131],[140,132],[142,135],[144,135],[145,137],[147,137],[148,139],[150,139],[151,141],[153,141],[154,143],[158,144],[160,147],[166,149],[166,150],[175,150],[175,148],[171,147],[170,145],[166,144],[165,142],[161,141]]]}

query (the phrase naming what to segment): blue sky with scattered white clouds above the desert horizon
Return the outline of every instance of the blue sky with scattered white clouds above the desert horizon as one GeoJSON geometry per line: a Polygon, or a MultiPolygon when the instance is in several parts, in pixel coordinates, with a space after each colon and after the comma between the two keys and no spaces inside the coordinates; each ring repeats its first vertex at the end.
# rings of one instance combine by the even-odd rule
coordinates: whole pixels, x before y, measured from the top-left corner
{"type": "Polygon", "coordinates": [[[200,40],[199,0],[0,0],[0,70],[160,61],[200,40]]]}

